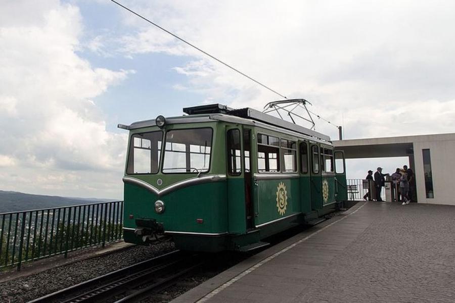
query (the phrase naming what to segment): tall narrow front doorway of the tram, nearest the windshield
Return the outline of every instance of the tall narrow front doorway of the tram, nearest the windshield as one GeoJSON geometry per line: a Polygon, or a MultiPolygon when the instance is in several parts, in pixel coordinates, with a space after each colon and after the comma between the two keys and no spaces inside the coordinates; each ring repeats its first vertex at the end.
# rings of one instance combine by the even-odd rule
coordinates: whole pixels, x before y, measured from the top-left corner
{"type": "Polygon", "coordinates": [[[251,130],[226,126],[228,224],[230,233],[253,226],[251,201],[251,130]]]}

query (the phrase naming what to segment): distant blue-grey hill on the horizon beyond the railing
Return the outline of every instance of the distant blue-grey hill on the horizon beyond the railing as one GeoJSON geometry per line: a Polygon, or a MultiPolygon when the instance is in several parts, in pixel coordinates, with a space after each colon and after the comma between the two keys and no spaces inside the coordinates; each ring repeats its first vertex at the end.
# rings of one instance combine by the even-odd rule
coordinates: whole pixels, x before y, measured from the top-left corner
{"type": "Polygon", "coordinates": [[[113,199],[74,198],[28,194],[16,191],[0,190],[0,213],[46,209],[60,206],[101,203],[113,199]]]}

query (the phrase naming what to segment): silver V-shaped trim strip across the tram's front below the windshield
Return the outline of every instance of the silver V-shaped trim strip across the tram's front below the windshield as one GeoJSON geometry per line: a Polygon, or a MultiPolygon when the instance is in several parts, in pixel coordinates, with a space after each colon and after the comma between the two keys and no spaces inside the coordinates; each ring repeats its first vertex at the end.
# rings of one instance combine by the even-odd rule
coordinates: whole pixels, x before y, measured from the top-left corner
{"type": "Polygon", "coordinates": [[[163,189],[158,189],[153,185],[150,185],[149,183],[133,178],[133,177],[123,177],[123,182],[137,185],[144,187],[145,189],[149,190],[150,192],[156,194],[157,196],[163,196],[165,194],[168,194],[171,191],[184,188],[190,185],[195,185],[195,184],[201,184],[201,183],[208,183],[208,182],[218,182],[218,181],[224,181],[226,180],[226,175],[208,175],[204,177],[194,177],[191,179],[183,180],[180,182],[177,182],[175,184],[169,185],[167,187],[164,187],[163,189]]]}

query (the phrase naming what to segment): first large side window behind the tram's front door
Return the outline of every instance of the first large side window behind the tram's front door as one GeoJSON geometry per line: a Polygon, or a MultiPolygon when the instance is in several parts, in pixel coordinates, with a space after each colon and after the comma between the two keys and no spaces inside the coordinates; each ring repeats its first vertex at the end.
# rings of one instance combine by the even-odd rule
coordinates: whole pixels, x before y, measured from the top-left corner
{"type": "Polygon", "coordinates": [[[261,172],[278,172],[280,170],[280,139],[258,134],[257,167],[261,172]]]}

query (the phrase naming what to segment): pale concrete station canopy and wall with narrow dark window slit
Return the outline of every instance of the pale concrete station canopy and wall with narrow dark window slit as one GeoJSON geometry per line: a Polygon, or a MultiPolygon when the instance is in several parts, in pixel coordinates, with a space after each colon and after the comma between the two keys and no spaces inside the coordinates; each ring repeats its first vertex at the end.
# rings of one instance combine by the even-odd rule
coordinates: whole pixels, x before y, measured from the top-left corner
{"type": "Polygon", "coordinates": [[[408,157],[420,203],[455,205],[455,133],[333,141],[346,159],[408,157]],[[424,164],[424,153],[429,156],[424,164]],[[431,172],[428,174],[428,172],[431,172]],[[432,192],[428,192],[431,177],[432,192]]]}

